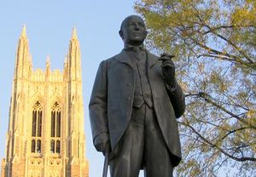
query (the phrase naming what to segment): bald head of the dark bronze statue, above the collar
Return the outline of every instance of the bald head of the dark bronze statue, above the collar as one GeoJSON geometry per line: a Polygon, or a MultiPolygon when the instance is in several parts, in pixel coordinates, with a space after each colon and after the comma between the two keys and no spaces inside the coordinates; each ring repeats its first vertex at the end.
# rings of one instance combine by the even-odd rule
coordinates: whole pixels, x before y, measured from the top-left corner
{"type": "Polygon", "coordinates": [[[148,32],[146,31],[143,19],[137,15],[127,17],[123,21],[123,26],[119,31],[119,35],[123,41],[131,45],[142,44],[147,34],[148,32]]]}

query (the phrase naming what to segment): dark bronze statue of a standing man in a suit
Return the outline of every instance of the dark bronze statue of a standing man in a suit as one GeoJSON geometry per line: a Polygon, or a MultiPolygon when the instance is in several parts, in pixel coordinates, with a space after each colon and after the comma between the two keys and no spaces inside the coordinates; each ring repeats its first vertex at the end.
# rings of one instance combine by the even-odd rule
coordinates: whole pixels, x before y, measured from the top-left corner
{"type": "Polygon", "coordinates": [[[108,153],[112,177],[170,177],[181,160],[177,117],[185,109],[170,55],[144,49],[148,32],[131,15],[119,36],[124,49],[100,64],[90,98],[94,146],[108,153]]]}

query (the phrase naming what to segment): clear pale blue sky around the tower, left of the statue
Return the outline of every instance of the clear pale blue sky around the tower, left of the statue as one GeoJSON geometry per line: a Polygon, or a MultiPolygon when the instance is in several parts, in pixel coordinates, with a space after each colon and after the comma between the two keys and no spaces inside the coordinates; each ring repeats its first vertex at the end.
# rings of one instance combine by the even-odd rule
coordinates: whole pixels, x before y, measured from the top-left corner
{"type": "MultiPolygon", "coordinates": [[[[92,145],[88,102],[96,70],[123,49],[118,31],[122,20],[136,14],[135,0],[8,0],[0,1],[0,158],[5,156],[9,100],[14,77],[15,52],[23,25],[32,54],[33,69],[63,69],[72,28],[76,27],[82,54],[84,128],[90,177],[102,175],[103,157],[92,145]]],[[[143,176],[143,175],[140,175],[143,176]]]]}

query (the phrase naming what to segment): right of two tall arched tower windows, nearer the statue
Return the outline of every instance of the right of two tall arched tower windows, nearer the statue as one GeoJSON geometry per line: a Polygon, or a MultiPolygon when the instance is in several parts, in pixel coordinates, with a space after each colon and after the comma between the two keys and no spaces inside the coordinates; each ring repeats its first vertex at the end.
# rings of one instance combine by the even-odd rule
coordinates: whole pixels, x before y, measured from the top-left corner
{"type": "Polygon", "coordinates": [[[57,101],[51,107],[50,152],[61,152],[61,105],[57,101]]]}

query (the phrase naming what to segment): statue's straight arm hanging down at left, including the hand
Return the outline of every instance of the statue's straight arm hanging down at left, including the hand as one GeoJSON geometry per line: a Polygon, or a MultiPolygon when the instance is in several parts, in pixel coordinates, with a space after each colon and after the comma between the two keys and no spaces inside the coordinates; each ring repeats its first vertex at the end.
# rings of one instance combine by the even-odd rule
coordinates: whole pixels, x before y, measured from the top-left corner
{"type": "MultiPolygon", "coordinates": [[[[95,83],[90,95],[90,127],[94,145],[107,143],[108,135],[108,68],[103,60],[96,73],[95,83]]],[[[96,147],[98,150],[98,148],[96,147]]],[[[101,150],[98,150],[101,151],[101,150]]]]}

